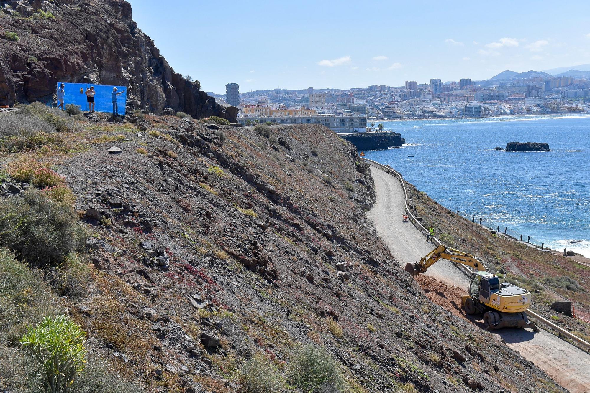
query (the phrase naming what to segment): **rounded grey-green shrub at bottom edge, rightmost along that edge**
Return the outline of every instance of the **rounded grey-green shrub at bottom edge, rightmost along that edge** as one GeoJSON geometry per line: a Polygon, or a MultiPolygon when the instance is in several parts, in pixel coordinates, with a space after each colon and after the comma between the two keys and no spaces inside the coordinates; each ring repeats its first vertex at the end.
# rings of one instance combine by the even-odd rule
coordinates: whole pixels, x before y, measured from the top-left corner
{"type": "Polygon", "coordinates": [[[313,345],[306,345],[297,352],[289,377],[293,385],[306,393],[329,388],[339,391],[343,387],[336,361],[324,349],[313,345]]]}

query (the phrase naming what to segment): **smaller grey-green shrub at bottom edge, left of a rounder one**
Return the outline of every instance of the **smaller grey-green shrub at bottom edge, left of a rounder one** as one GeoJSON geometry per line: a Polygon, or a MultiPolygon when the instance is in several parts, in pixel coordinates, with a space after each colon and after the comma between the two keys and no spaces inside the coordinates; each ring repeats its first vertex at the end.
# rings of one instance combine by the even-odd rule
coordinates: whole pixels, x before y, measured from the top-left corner
{"type": "Polygon", "coordinates": [[[261,356],[253,356],[240,369],[242,393],[271,393],[283,389],[277,370],[261,356]]]}

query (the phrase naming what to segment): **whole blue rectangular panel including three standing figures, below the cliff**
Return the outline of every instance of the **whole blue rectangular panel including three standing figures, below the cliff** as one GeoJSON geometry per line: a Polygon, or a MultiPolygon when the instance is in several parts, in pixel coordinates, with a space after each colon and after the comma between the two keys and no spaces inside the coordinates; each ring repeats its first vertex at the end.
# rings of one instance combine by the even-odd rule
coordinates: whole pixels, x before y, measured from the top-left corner
{"type": "MultiPolygon", "coordinates": [[[[127,103],[127,88],[124,86],[97,85],[89,83],[68,83],[57,82],[57,99],[63,94],[64,108],[68,104],[78,105],[83,112],[90,111],[91,103],[94,101],[94,111],[117,113],[125,115],[127,103]],[[61,84],[64,84],[63,93],[60,91],[61,84]],[[90,89],[93,87],[93,89],[90,89]],[[116,90],[114,90],[116,88],[116,90]],[[113,105],[113,101],[114,104],[113,105]]],[[[58,102],[58,105],[60,102],[58,102]]]]}

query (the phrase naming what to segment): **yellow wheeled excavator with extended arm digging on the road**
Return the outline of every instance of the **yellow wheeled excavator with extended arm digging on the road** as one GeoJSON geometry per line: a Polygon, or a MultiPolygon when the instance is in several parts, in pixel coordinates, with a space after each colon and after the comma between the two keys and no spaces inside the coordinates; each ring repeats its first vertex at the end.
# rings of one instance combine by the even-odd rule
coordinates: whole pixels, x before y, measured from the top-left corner
{"type": "Polygon", "coordinates": [[[487,272],[486,264],[471,255],[443,245],[436,247],[419,262],[408,263],[405,270],[413,277],[426,272],[438,260],[446,259],[472,267],[469,294],[461,296],[461,307],[467,314],[484,313],[486,329],[523,328],[528,324],[526,310],[530,292],[487,272]]]}

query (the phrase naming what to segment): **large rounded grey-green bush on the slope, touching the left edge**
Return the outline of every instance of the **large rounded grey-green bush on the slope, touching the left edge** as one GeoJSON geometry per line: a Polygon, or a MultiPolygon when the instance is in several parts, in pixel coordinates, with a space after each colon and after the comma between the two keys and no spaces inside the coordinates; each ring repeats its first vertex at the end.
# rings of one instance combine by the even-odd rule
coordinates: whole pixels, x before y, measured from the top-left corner
{"type": "Polygon", "coordinates": [[[29,189],[22,197],[0,201],[0,245],[32,266],[60,265],[84,246],[86,236],[74,206],[42,191],[29,189]]]}

